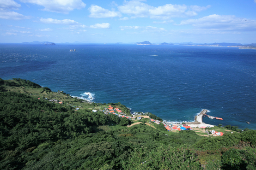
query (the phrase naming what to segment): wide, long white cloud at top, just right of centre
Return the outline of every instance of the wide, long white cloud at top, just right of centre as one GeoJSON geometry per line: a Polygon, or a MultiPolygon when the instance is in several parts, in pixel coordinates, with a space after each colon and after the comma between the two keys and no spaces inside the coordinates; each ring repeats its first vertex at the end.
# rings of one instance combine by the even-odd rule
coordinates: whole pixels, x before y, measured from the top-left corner
{"type": "Polygon", "coordinates": [[[123,6],[118,6],[118,10],[128,15],[134,15],[135,18],[153,18],[161,20],[170,20],[176,17],[191,17],[197,15],[197,12],[206,10],[211,6],[186,6],[165,4],[164,6],[149,6],[146,3],[131,0],[124,1],[123,6]]]}

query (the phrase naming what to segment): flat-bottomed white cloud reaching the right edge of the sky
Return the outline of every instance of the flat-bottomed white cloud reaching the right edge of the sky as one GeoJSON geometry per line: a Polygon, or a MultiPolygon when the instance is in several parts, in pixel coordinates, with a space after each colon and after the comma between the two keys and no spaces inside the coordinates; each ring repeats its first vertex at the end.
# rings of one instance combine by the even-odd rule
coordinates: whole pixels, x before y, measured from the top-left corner
{"type": "Polygon", "coordinates": [[[256,31],[256,20],[237,18],[234,15],[213,14],[199,19],[181,21],[180,23],[180,25],[187,24],[201,29],[256,31]]]}

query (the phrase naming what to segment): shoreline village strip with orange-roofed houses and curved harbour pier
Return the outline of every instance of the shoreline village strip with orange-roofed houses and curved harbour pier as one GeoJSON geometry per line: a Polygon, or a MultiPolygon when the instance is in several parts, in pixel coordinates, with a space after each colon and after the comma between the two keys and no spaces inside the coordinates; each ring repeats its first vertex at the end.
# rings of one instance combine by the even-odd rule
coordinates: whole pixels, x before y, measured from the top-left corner
{"type": "MultiPolygon", "coordinates": [[[[165,129],[171,132],[179,132],[182,130],[194,130],[197,135],[203,135],[203,136],[222,136],[226,131],[228,131],[223,129],[216,129],[217,126],[203,123],[202,122],[203,116],[207,116],[209,118],[216,118],[216,119],[219,119],[220,121],[222,120],[222,118],[212,117],[207,115],[206,109],[203,109],[199,115],[195,116],[195,122],[183,122],[183,123],[173,123],[173,122],[171,123],[171,122],[165,122],[165,121],[161,122],[157,119],[152,119],[152,117],[149,117],[147,113],[142,113],[142,114],[136,114],[136,113],[134,114],[132,112],[124,113],[122,111],[122,108],[120,108],[119,106],[111,106],[111,105],[94,106],[93,108],[88,105],[92,102],[85,101],[85,100],[76,102],[76,100],[79,100],[79,98],[71,97],[70,95],[64,93],[63,91],[58,91],[57,93],[55,93],[55,92],[45,91],[44,89],[43,91],[42,89],[29,89],[30,92],[28,92],[28,89],[24,87],[18,88],[18,89],[20,93],[24,93],[24,94],[28,93],[32,96],[35,95],[35,97],[38,96],[39,94],[39,96],[41,97],[38,98],[38,100],[47,100],[52,103],[71,106],[75,109],[75,111],[86,108],[86,109],[91,109],[91,112],[103,111],[105,115],[114,114],[118,117],[125,117],[131,120],[132,122],[131,124],[128,125],[128,127],[145,122],[146,125],[156,128],[154,127],[154,124],[157,125],[157,124],[163,123],[165,126],[165,129]]],[[[8,91],[16,91],[18,89],[10,88],[8,89],[8,91]]]]}

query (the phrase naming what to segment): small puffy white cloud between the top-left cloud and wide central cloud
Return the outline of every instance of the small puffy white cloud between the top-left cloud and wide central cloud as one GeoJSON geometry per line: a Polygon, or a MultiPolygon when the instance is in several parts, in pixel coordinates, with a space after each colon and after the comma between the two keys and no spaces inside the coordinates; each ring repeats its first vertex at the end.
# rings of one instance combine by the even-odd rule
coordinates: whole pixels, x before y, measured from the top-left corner
{"type": "Polygon", "coordinates": [[[122,17],[120,12],[110,11],[108,9],[104,9],[100,6],[91,5],[88,9],[91,14],[89,17],[91,18],[111,18],[111,17],[122,17]]]}

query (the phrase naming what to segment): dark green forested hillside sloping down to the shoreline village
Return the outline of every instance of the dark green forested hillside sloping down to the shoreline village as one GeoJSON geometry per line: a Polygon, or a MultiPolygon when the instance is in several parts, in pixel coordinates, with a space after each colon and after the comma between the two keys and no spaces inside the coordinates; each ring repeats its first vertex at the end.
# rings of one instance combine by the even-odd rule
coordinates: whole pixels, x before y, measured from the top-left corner
{"type": "Polygon", "coordinates": [[[204,137],[145,123],[127,127],[131,122],[125,117],[91,111],[104,106],[30,81],[0,79],[0,169],[256,169],[256,130],[204,137]],[[42,100],[46,96],[64,104],[42,100]]]}

